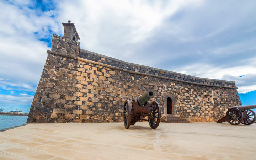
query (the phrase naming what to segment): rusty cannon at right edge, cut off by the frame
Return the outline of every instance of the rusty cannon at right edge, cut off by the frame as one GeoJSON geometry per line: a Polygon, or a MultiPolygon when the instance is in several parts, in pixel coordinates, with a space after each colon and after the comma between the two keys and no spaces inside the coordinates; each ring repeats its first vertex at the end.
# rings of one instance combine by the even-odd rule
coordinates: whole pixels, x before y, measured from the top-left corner
{"type": "Polygon", "coordinates": [[[256,108],[256,105],[229,107],[226,116],[216,122],[222,123],[228,121],[232,125],[238,125],[240,123],[250,125],[255,122],[256,116],[254,111],[251,110],[254,108],[256,108]]]}

